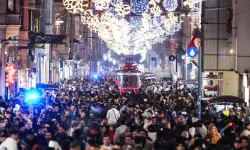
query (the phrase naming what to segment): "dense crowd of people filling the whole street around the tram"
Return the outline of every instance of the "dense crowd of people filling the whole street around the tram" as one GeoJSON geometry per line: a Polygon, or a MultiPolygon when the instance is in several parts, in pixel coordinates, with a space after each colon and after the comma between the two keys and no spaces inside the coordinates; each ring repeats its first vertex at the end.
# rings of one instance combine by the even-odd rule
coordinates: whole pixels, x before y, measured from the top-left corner
{"type": "Polygon", "coordinates": [[[0,98],[0,150],[247,150],[243,108],[197,117],[196,91],[144,84],[120,94],[111,79],[84,80],[81,90],[0,98]],[[151,87],[151,88],[149,88],[151,87]],[[152,88],[153,87],[153,88],[152,88]]]}

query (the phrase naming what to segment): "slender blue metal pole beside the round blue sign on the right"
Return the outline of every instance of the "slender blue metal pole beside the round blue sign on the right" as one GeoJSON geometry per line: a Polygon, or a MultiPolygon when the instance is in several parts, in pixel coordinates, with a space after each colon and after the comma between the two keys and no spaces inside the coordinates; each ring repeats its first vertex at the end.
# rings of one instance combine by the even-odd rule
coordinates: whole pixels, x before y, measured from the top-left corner
{"type": "Polygon", "coordinates": [[[199,71],[198,71],[198,117],[201,119],[201,98],[202,98],[202,48],[199,50],[199,71]]]}

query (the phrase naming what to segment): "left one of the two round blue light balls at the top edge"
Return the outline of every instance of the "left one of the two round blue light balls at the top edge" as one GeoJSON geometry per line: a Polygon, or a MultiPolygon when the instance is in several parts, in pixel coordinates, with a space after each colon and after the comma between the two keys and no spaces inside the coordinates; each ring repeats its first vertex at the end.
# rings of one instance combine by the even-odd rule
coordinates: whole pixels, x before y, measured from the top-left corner
{"type": "Polygon", "coordinates": [[[131,9],[136,15],[141,15],[148,11],[149,3],[147,0],[133,0],[131,9]]]}

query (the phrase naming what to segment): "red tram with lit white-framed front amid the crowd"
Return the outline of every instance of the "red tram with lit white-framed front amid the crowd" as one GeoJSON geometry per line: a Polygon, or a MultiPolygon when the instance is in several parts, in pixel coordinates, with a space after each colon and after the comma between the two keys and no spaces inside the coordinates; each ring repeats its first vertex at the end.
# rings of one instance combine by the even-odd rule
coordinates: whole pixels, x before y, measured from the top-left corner
{"type": "Polygon", "coordinates": [[[127,64],[124,67],[121,67],[117,71],[117,80],[116,85],[118,86],[119,92],[135,92],[138,93],[141,87],[140,80],[141,72],[138,71],[138,68],[132,64],[127,64]]]}

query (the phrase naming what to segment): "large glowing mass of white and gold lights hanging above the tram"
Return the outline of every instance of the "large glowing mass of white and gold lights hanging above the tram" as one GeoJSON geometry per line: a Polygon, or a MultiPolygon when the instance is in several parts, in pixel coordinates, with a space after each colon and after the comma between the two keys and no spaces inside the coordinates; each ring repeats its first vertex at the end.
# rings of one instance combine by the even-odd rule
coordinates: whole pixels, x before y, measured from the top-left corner
{"type": "Polygon", "coordinates": [[[97,32],[109,49],[117,54],[141,54],[141,62],[153,44],[162,43],[180,29],[179,17],[163,12],[160,0],[134,0],[131,7],[122,0],[92,0],[91,9],[85,6],[88,0],[63,1],[68,4],[66,9],[80,14],[82,23],[97,32]]]}

